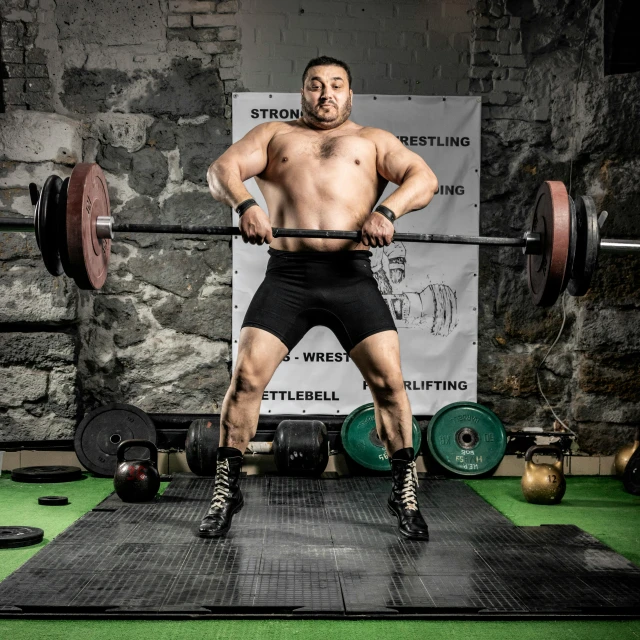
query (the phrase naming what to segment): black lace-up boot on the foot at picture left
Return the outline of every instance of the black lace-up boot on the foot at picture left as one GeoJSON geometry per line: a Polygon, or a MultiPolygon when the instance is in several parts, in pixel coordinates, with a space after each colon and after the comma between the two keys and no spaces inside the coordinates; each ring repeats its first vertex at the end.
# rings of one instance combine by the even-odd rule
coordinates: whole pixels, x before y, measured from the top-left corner
{"type": "Polygon", "coordinates": [[[240,491],[242,454],[233,447],[220,447],[216,464],[213,498],[207,515],[202,519],[198,534],[201,538],[218,538],[231,527],[231,518],[244,506],[240,491]]]}

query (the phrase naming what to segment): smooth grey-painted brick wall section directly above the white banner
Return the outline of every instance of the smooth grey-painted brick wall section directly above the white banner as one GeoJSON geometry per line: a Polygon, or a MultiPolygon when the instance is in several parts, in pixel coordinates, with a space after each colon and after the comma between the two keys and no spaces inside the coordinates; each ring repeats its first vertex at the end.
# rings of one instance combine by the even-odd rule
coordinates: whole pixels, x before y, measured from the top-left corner
{"type": "Polygon", "coordinates": [[[241,0],[240,77],[249,91],[298,91],[309,59],[331,55],[356,93],[465,95],[472,5],[241,0]]]}

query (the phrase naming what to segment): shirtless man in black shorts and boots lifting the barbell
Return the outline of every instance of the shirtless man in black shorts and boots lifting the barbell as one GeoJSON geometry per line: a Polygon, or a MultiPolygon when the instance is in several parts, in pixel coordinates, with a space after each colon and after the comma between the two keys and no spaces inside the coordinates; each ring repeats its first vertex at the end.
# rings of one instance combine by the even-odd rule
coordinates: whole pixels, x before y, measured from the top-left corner
{"type": "Polygon", "coordinates": [[[242,508],[242,456],[257,429],[262,393],[283,358],[311,327],[321,324],[333,330],[371,389],[378,435],[391,460],[388,506],[399,531],[426,540],[398,333],[372,275],[368,247],[389,245],[393,220],[429,204],[438,181],[394,135],[349,120],[353,92],[344,62],[311,60],[302,83],[298,120],[258,125],[207,172],[211,195],[241,215],[244,241],[271,247],[222,403],[215,488],[199,535],[224,535],[242,508]],[[243,184],[252,177],[269,215],[243,184]],[[374,210],[389,181],[398,189],[374,210]],[[362,242],[274,240],[272,226],[360,229],[362,242]]]}

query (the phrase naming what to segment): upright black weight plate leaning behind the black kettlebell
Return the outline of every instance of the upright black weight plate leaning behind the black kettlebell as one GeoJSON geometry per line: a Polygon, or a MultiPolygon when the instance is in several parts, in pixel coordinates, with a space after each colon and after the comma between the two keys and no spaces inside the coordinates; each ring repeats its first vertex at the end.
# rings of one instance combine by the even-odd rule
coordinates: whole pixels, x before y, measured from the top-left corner
{"type": "MultiPolygon", "coordinates": [[[[113,403],[88,413],[76,429],[73,446],[78,460],[99,476],[113,476],[116,452],[123,440],[150,440],[156,444],[156,428],[138,407],[113,403]]],[[[132,447],[127,460],[148,460],[149,450],[132,447]]]]}

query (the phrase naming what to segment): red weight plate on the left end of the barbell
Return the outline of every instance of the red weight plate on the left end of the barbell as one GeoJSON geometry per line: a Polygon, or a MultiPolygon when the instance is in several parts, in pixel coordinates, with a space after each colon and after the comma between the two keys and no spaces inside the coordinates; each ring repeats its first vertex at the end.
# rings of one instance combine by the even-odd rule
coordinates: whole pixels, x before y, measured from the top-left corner
{"type": "Polygon", "coordinates": [[[107,181],[97,164],[77,164],[67,193],[67,252],[81,289],[100,289],[107,279],[111,240],[96,234],[99,216],[111,215],[107,181]]]}

